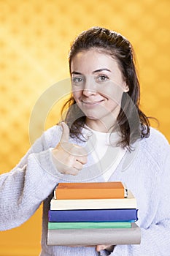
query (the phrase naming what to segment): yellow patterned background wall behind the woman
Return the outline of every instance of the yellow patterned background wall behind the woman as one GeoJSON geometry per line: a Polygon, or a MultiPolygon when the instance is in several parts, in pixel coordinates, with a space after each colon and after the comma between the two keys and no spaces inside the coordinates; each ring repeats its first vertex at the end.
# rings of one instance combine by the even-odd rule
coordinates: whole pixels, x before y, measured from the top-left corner
{"type": "MultiPolygon", "coordinates": [[[[169,0],[0,0],[0,173],[11,170],[30,147],[36,100],[69,78],[70,42],[91,26],[119,31],[132,42],[142,109],[158,118],[158,129],[170,141],[169,18],[169,0]]],[[[58,116],[55,109],[45,128],[58,116]]],[[[22,226],[0,233],[0,256],[39,255],[41,214],[39,208],[22,226]]]]}

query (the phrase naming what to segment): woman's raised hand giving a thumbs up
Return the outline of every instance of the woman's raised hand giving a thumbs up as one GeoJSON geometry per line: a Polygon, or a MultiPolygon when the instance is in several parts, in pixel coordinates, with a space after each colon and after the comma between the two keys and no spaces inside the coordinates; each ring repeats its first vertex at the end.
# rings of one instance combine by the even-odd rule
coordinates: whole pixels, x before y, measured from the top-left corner
{"type": "Polygon", "coordinates": [[[81,146],[69,143],[69,127],[65,123],[61,123],[61,127],[61,140],[52,151],[53,162],[60,173],[77,175],[87,162],[87,151],[81,146]]]}

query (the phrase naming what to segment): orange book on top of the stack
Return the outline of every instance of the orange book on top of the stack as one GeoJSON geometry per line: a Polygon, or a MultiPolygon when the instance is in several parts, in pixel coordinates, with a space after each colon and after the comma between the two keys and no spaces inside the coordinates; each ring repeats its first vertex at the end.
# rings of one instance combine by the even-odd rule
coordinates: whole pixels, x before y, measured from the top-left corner
{"type": "Polygon", "coordinates": [[[109,199],[127,197],[128,189],[122,182],[59,183],[55,199],[109,199]]]}

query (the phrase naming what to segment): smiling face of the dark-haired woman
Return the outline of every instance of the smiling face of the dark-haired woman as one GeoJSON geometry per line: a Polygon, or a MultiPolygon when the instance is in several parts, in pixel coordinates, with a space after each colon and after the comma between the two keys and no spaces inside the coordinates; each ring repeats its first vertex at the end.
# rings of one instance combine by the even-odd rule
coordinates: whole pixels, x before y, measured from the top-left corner
{"type": "Polygon", "coordinates": [[[128,91],[128,86],[112,56],[97,49],[80,51],[72,59],[71,75],[72,93],[87,124],[117,118],[123,91],[128,91]]]}

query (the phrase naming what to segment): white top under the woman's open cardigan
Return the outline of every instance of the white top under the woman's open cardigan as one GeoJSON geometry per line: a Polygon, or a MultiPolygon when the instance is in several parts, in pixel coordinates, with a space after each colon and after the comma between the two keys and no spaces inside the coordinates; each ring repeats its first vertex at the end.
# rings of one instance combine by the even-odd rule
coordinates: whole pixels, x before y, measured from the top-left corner
{"type": "Polygon", "coordinates": [[[120,136],[117,132],[112,132],[112,134],[98,132],[90,129],[87,126],[82,129],[82,134],[85,136],[85,138],[88,138],[88,145],[90,145],[91,151],[90,153],[95,163],[101,162],[101,159],[104,157],[104,155],[109,154],[110,151],[108,151],[108,149],[110,147],[114,147],[115,150],[113,150],[112,154],[110,154],[112,165],[109,167],[104,167],[104,172],[102,173],[104,181],[109,181],[109,178],[112,176],[112,173],[114,173],[117,165],[119,165],[126,152],[124,148],[116,146],[120,136]],[[112,145],[110,141],[112,141],[112,145]]]}

